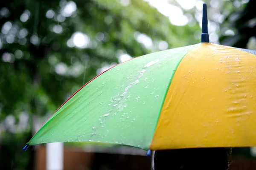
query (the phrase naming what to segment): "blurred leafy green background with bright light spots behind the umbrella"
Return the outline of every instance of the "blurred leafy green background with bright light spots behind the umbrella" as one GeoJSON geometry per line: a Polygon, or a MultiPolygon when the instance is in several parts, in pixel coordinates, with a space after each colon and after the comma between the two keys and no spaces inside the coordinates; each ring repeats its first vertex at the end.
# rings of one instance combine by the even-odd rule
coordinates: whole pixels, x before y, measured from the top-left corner
{"type": "MultiPolygon", "coordinates": [[[[201,42],[256,50],[255,0],[1,0],[0,169],[45,170],[46,145],[22,148],[82,85],[120,62],[201,42]]],[[[236,148],[230,170],[255,170],[236,148]]],[[[150,170],[145,151],[65,143],[64,170],[150,170]]],[[[209,153],[210,154],[210,153],[209,153]]]]}

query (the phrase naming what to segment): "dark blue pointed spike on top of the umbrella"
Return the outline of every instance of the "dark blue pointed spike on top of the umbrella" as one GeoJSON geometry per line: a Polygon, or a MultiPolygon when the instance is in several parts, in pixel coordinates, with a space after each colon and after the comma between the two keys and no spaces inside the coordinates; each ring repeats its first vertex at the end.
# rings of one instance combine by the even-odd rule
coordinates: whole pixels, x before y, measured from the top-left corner
{"type": "Polygon", "coordinates": [[[204,5],[203,5],[203,19],[202,19],[201,42],[209,42],[208,19],[207,19],[207,5],[206,5],[206,3],[204,3],[204,5]]]}

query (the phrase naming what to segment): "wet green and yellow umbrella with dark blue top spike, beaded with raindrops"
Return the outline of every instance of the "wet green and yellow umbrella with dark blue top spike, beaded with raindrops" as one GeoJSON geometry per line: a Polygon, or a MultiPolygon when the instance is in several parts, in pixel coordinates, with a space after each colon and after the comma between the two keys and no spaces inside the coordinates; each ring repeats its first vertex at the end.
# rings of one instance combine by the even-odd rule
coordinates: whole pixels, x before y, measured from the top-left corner
{"type": "Polygon", "coordinates": [[[73,94],[23,148],[49,142],[143,150],[256,145],[256,51],[201,43],[136,57],[73,94]]]}

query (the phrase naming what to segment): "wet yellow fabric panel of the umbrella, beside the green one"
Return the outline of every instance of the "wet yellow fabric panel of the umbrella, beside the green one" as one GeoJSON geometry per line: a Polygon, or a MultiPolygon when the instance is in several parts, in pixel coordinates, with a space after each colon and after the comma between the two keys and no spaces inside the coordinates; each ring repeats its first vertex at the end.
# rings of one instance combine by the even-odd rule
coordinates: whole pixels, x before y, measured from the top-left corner
{"type": "Polygon", "coordinates": [[[207,42],[186,54],[150,149],[255,146],[255,67],[253,51],[207,42]]]}

